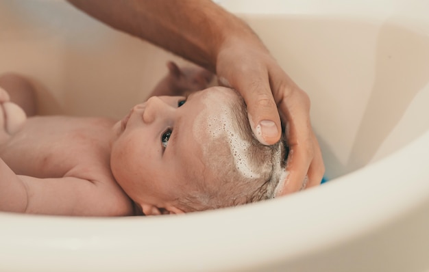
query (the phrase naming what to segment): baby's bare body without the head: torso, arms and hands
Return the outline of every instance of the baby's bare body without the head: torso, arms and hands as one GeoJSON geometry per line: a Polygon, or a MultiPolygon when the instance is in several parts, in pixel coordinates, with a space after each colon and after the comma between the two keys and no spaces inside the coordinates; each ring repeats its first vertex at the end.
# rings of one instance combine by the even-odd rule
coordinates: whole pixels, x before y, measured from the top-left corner
{"type": "MultiPolygon", "coordinates": [[[[198,87],[195,79],[199,80],[203,74],[204,79],[207,78],[206,70],[185,75],[175,64],[169,64],[169,68],[169,75],[152,95],[167,91],[171,94],[184,90],[195,92],[198,87]],[[175,74],[171,67],[175,68],[175,74]]],[[[25,90],[31,85],[20,81],[25,79],[14,75],[0,77],[0,86],[8,87],[10,93],[0,89],[0,113],[3,113],[0,193],[7,192],[0,194],[2,210],[49,215],[142,215],[142,209],[118,185],[110,169],[110,145],[117,136],[114,126],[117,121],[34,116],[20,124],[19,130],[8,131],[4,106],[10,103],[10,97],[18,98],[15,101],[24,111],[27,111],[26,105],[32,107],[25,98],[34,90],[25,90]],[[5,82],[8,84],[2,84],[5,82]],[[14,92],[16,88],[19,92],[14,92]]]]}

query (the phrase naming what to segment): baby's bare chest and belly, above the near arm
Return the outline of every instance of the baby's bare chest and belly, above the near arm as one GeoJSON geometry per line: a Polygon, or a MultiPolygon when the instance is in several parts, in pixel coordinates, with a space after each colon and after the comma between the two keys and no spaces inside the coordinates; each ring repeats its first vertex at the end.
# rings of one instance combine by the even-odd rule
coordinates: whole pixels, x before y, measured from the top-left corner
{"type": "Polygon", "coordinates": [[[58,178],[80,165],[108,165],[107,131],[82,126],[31,124],[0,149],[0,157],[16,173],[58,178]]]}

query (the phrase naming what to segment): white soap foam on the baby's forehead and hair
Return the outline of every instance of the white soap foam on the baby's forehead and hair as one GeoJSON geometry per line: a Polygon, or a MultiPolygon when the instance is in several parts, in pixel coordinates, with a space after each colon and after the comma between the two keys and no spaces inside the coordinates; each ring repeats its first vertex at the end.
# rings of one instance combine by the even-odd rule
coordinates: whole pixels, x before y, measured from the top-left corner
{"type": "MultiPolygon", "coordinates": [[[[245,178],[260,178],[260,174],[252,169],[249,159],[250,143],[242,139],[234,128],[232,111],[225,106],[225,100],[210,92],[204,95],[205,109],[197,115],[193,126],[195,139],[199,141],[199,144],[204,144],[202,139],[206,135],[211,137],[211,141],[225,139],[233,155],[234,165],[238,172],[245,178]],[[210,112],[217,112],[217,115],[211,115],[210,112]],[[205,123],[204,120],[206,120],[207,124],[206,129],[199,126],[199,124],[205,123]]],[[[207,154],[208,150],[204,147],[203,152],[205,157],[210,155],[207,154]]]]}

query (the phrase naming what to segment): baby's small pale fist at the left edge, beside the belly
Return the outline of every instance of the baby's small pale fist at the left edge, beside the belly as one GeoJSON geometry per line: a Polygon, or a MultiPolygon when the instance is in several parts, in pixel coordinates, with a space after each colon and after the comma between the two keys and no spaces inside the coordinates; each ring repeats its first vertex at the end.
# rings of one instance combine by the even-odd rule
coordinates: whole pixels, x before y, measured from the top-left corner
{"type": "Polygon", "coordinates": [[[23,109],[10,102],[8,92],[0,87],[0,134],[13,135],[26,119],[23,109]]]}

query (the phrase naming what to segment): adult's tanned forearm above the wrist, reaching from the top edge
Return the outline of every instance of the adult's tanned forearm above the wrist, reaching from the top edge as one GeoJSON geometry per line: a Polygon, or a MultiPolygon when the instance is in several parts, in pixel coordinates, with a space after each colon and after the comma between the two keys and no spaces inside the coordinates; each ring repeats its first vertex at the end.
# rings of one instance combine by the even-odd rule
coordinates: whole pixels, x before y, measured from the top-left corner
{"type": "Polygon", "coordinates": [[[68,0],[116,29],[138,36],[215,72],[228,36],[254,36],[210,0],[68,0]]]}

